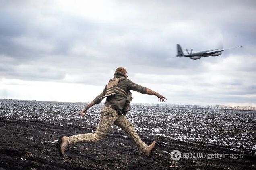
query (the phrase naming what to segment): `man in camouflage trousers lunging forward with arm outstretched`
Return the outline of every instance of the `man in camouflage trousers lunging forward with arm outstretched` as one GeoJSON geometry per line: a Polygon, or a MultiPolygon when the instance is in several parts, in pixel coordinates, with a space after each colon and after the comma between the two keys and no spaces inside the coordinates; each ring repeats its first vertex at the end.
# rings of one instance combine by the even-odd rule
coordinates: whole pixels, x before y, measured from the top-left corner
{"type": "Polygon", "coordinates": [[[98,95],[85,109],[81,111],[81,116],[87,113],[87,110],[95,104],[99,104],[104,97],[105,107],[101,110],[101,119],[97,129],[94,133],[78,134],[73,136],[60,136],[56,144],[60,155],[63,155],[68,145],[83,143],[83,142],[99,142],[108,133],[111,125],[121,127],[138,146],[138,150],[144,156],[151,157],[152,151],[156,147],[156,142],[152,142],[149,146],[143,142],[138,136],[134,126],[124,116],[129,111],[129,102],[131,100],[130,90],[137,91],[142,94],[156,95],[160,102],[165,102],[162,95],[148,89],[146,87],[137,85],[127,79],[127,71],[122,67],[118,67],[114,74],[114,78],[109,80],[105,89],[98,95]],[[130,98],[130,99],[129,99],[130,98]]]}

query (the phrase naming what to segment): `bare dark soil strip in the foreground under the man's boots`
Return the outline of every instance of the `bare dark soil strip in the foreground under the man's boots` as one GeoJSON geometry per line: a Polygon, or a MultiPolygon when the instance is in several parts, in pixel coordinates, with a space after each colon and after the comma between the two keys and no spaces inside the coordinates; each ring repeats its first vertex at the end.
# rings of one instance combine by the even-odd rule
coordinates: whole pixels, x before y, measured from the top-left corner
{"type": "Polygon", "coordinates": [[[152,139],[157,141],[157,149],[152,158],[139,155],[135,144],[122,130],[112,129],[99,143],[84,143],[69,146],[60,156],[55,140],[60,135],[73,135],[95,131],[93,127],[81,127],[43,121],[1,119],[0,120],[0,169],[8,170],[48,170],[48,169],[132,169],[132,170],[162,170],[162,169],[225,169],[241,170],[255,169],[255,154],[235,152],[223,147],[206,146],[172,140],[163,136],[139,133],[147,144],[152,139]],[[123,135],[123,136],[122,136],[123,135]],[[165,143],[164,143],[165,142],[165,143]],[[168,144],[166,144],[168,143],[168,144]],[[243,158],[181,158],[171,159],[173,150],[180,152],[202,152],[207,154],[243,154],[243,158]]]}

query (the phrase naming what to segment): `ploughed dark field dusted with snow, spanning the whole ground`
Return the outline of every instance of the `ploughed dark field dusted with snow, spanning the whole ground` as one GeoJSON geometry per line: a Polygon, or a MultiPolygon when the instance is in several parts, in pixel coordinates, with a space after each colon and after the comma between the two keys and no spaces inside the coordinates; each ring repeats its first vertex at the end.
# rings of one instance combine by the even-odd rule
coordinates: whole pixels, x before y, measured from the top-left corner
{"type": "Polygon", "coordinates": [[[0,99],[0,132],[2,136],[5,136],[0,141],[0,161],[2,161],[0,167],[6,169],[10,169],[10,167],[14,169],[17,167],[18,169],[19,167],[21,169],[26,169],[25,167],[36,169],[43,167],[54,167],[53,169],[255,168],[255,163],[252,161],[256,158],[255,111],[170,107],[132,106],[131,111],[126,115],[146,143],[149,144],[152,140],[158,142],[155,157],[150,160],[139,156],[129,137],[115,126],[109,136],[99,144],[70,146],[66,157],[60,159],[54,148],[58,136],[93,132],[97,127],[99,111],[103,105],[95,105],[85,117],[81,117],[79,113],[84,106],[85,103],[0,99]],[[15,141],[14,135],[18,135],[20,141],[23,142],[15,141]],[[26,145],[33,147],[26,147],[26,145]],[[89,159],[89,162],[86,163],[80,162],[81,157],[76,158],[76,154],[81,154],[85,147],[87,151],[89,150],[82,156],[87,161],[89,159]],[[40,148],[45,151],[41,155],[38,153],[40,148]],[[81,151],[79,152],[79,150],[81,151]],[[244,158],[236,160],[230,158],[223,160],[182,158],[173,161],[170,157],[172,150],[243,154],[244,158]],[[15,152],[18,152],[19,156],[15,156],[15,152]],[[37,157],[29,157],[27,153],[37,155],[37,157]],[[70,155],[73,155],[72,158],[70,155]],[[44,161],[39,164],[40,156],[44,161]],[[109,160],[104,163],[107,158],[109,160]],[[21,164],[18,166],[16,161],[11,165],[10,162],[15,162],[13,159],[18,159],[21,164]],[[65,162],[67,160],[69,162],[65,162]],[[22,164],[26,161],[31,161],[33,164],[22,164]],[[49,162],[56,162],[56,164],[49,162]],[[96,162],[96,165],[93,162],[96,162]],[[66,163],[71,163],[71,165],[68,166],[66,163]]]}

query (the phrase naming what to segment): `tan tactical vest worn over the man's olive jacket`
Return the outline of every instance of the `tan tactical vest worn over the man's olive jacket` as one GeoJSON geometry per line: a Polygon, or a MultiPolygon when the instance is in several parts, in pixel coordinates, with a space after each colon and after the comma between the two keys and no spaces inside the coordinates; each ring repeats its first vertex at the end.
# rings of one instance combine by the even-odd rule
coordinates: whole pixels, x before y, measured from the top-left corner
{"type": "Polygon", "coordinates": [[[123,89],[120,89],[119,87],[117,87],[118,82],[122,81],[126,79],[125,77],[121,77],[121,78],[113,78],[109,80],[109,83],[107,84],[106,87],[106,91],[105,91],[105,95],[103,97],[100,97],[99,99],[103,99],[105,97],[114,95],[116,93],[123,95],[125,98],[127,98],[127,93],[126,91],[124,91],[123,89]]]}

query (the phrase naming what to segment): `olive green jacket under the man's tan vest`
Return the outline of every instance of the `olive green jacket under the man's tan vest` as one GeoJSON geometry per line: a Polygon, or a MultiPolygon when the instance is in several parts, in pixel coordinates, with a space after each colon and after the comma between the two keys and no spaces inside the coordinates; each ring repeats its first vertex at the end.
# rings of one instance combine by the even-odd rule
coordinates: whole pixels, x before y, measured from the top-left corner
{"type": "MultiPolygon", "coordinates": [[[[125,75],[121,72],[115,73],[114,78],[120,78],[120,77],[125,77],[125,75]]],[[[139,93],[145,94],[147,89],[146,87],[133,83],[129,79],[121,80],[120,82],[118,82],[117,86],[122,90],[124,90],[126,93],[128,93],[129,90],[134,90],[134,91],[138,91],[139,93]]],[[[95,104],[99,104],[102,101],[102,99],[99,99],[99,98],[105,95],[106,87],[107,85],[103,89],[102,93],[93,100],[95,104]]],[[[122,110],[124,108],[125,103],[126,103],[126,98],[124,98],[123,95],[116,93],[115,95],[111,95],[107,97],[105,106],[111,105],[111,107],[116,111],[118,111],[119,114],[122,114],[122,110]]]]}

